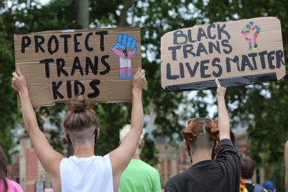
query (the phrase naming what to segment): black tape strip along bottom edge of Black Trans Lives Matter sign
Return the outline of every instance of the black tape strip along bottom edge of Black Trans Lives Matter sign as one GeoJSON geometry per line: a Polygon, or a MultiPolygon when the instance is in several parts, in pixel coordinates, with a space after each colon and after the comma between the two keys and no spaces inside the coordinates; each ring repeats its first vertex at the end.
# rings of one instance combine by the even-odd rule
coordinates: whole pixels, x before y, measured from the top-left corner
{"type": "MultiPolygon", "coordinates": [[[[221,86],[232,87],[232,86],[245,86],[255,83],[264,83],[269,81],[277,81],[277,75],[275,72],[266,74],[255,74],[243,77],[233,77],[227,79],[219,79],[221,86]]],[[[181,90],[207,90],[217,88],[215,80],[201,81],[196,83],[184,83],[174,86],[166,86],[166,91],[181,91],[181,90]]]]}

